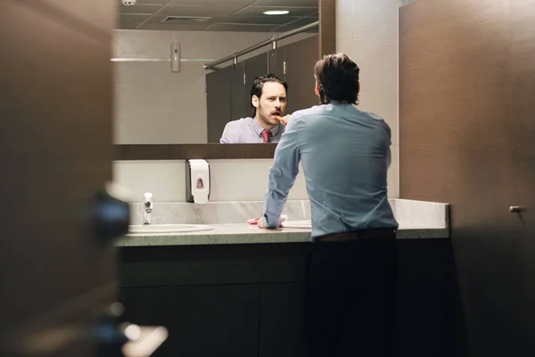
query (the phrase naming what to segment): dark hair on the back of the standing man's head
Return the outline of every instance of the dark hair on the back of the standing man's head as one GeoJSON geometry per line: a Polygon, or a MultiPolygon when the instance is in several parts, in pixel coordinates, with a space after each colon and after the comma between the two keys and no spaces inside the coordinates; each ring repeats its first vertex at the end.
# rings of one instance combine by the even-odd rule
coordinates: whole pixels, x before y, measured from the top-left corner
{"type": "Polygon", "coordinates": [[[331,101],[358,104],[359,71],[357,63],[346,54],[327,54],[318,61],[314,76],[321,104],[331,101]]]}

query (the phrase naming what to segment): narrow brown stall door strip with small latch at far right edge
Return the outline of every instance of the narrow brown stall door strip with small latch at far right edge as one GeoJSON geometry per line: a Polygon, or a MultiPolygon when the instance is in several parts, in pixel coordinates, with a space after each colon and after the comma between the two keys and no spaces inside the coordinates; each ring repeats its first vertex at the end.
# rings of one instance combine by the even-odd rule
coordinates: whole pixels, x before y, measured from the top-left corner
{"type": "Polygon", "coordinates": [[[519,292],[521,313],[516,319],[521,327],[523,351],[532,354],[531,341],[535,336],[535,0],[514,0],[510,6],[511,91],[507,137],[512,148],[509,161],[514,162],[510,179],[514,196],[510,205],[521,209],[510,213],[514,227],[520,232],[517,239],[522,272],[518,277],[522,285],[519,292]]]}

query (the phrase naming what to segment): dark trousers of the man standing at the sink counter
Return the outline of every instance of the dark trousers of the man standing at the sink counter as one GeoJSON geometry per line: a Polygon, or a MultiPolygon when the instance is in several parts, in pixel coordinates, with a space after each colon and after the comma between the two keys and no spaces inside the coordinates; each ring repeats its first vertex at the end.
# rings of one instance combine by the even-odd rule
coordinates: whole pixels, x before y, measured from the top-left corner
{"type": "Polygon", "coordinates": [[[308,357],[390,357],[398,281],[395,230],[383,236],[314,243],[309,257],[308,357]]]}

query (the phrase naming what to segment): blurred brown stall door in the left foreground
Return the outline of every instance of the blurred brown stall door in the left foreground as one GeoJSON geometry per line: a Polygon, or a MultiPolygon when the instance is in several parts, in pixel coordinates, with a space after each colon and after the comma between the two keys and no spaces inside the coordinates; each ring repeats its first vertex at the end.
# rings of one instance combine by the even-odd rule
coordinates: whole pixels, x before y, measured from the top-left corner
{"type": "Polygon", "coordinates": [[[94,233],[111,181],[116,2],[0,0],[0,355],[95,355],[116,257],[94,233]]]}

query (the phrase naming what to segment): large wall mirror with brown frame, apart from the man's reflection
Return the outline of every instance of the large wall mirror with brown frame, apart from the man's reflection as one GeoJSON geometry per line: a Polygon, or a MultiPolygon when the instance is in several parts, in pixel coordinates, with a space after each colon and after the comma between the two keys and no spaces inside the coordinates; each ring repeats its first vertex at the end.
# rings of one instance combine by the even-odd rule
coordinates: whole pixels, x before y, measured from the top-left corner
{"type": "Polygon", "coordinates": [[[226,123],[252,117],[259,75],[288,83],[285,114],[317,104],[312,70],[335,49],[334,0],[117,1],[118,160],[272,157],[276,144],[220,144],[226,123]]]}

